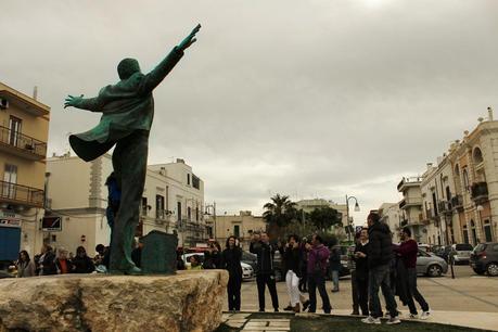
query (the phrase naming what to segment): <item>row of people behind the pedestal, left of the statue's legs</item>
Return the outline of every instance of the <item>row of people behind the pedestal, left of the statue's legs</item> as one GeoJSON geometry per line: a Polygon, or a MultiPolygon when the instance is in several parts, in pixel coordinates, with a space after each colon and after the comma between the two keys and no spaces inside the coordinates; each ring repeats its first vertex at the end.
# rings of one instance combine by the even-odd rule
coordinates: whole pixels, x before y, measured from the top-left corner
{"type": "Polygon", "coordinates": [[[17,278],[52,276],[65,273],[92,273],[99,267],[105,266],[106,247],[99,244],[95,247],[97,255],[88,256],[84,246],[76,248],[76,255],[60,247],[56,251],[49,244],[41,246],[40,254],[29,257],[27,251],[21,251],[15,261],[17,278]]]}

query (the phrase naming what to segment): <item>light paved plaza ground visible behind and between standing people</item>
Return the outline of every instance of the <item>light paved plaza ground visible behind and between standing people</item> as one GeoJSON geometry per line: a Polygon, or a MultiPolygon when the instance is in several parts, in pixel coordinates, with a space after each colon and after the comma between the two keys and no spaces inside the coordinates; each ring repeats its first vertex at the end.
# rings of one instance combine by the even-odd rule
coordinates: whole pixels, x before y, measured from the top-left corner
{"type": "MultiPolygon", "coordinates": [[[[419,277],[419,289],[432,309],[430,321],[498,331],[498,278],[476,276],[469,266],[456,266],[455,273],[455,279],[451,279],[449,272],[440,278],[419,277]]],[[[341,279],[340,292],[331,292],[332,282],[330,281],[327,282],[327,290],[333,307],[332,315],[349,315],[352,312],[349,277],[341,279]]],[[[289,304],[285,283],[278,282],[277,291],[282,311],[282,308],[289,304]]],[[[241,298],[242,311],[257,311],[259,309],[255,281],[242,283],[241,298]]],[[[399,302],[398,305],[400,305],[399,302]]],[[[317,308],[320,306],[321,301],[318,296],[317,308]]],[[[228,304],[226,303],[225,309],[227,307],[228,304]]],[[[399,309],[404,317],[408,316],[407,307],[401,306],[399,309]]],[[[272,311],[268,292],[266,292],[266,311],[272,311]]],[[[320,309],[317,311],[322,312],[320,309]]],[[[243,316],[243,314],[240,315],[243,316]]],[[[234,318],[244,319],[242,316],[234,318]]],[[[283,324],[283,322],[280,323],[283,324]]],[[[261,322],[257,322],[254,327],[258,324],[263,325],[261,322]]]]}

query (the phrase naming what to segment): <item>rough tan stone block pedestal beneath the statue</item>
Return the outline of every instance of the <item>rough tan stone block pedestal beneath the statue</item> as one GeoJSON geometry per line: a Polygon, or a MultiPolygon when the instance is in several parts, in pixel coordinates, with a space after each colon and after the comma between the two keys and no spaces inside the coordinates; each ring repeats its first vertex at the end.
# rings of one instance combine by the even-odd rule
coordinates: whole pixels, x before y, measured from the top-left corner
{"type": "Polygon", "coordinates": [[[0,280],[0,332],[213,331],[228,273],[64,274],[0,280]]]}

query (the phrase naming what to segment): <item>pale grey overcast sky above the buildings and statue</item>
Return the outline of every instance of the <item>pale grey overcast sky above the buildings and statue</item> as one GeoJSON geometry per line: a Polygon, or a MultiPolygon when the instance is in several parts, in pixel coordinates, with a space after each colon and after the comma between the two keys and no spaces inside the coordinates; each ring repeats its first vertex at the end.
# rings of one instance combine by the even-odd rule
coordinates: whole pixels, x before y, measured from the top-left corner
{"type": "Polygon", "coordinates": [[[357,224],[397,202],[487,106],[498,106],[498,1],[1,0],[0,81],[51,106],[49,152],[98,114],[93,97],[137,58],[152,69],[197,24],[156,88],[149,163],[184,158],[218,213],[358,197],[357,224]],[[119,5],[117,5],[119,3],[119,5]]]}

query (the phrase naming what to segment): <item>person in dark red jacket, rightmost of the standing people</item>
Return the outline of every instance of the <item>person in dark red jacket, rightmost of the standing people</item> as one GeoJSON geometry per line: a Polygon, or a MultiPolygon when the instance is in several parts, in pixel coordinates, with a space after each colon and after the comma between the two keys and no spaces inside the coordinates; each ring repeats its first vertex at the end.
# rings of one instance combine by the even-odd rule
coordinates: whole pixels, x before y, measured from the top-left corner
{"type": "Polygon", "coordinates": [[[429,304],[423,298],[417,289],[417,254],[419,253],[419,245],[417,241],[411,239],[411,230],[405,227],[401,230],[401,244],[395,250],[396,254],[401,257],[403,263],[407,269],[408,277],[408,308],[410,309],[410,318],[418,318],[417,307],[413,298],[417,299],[419,305],[422,307],[421,319],[427,319],[431,315],[429,304]]]}

